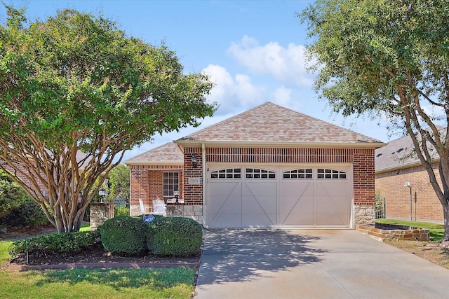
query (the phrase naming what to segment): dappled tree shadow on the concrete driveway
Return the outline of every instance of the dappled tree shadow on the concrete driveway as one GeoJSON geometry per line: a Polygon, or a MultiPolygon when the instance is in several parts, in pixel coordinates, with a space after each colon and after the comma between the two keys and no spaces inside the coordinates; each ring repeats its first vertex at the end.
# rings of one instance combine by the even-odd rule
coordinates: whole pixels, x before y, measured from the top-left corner
{"type": "MultiPolygon", "coordinates": [[[[317,262],[326,251],[308,246],[319,237],[289,235],[284,230],[208,230],[201,258],[199,284],[248,281],[262,271],[317,262]]],[[[266,275],[266,273],[264,274],[266,275]]]]}

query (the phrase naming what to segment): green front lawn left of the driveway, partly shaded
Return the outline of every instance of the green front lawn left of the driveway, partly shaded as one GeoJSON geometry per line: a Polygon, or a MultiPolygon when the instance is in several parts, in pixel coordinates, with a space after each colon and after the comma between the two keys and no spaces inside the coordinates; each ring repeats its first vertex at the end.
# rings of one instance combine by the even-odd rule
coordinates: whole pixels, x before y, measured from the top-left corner
{"type": "MultiPolygon", "coordinates": [[[[90,230],[83,223],[81,230],[90,230]]],[[[189,267],[12,272],[10,241],[0,241],[0,298],[192,298],[189,267]]]]}

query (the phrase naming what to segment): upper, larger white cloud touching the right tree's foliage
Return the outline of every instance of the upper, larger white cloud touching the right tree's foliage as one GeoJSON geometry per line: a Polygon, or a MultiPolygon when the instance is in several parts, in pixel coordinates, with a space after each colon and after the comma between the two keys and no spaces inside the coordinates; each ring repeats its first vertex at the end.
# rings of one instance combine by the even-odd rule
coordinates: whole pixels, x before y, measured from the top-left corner
{"type": "Polygon", "coordinates": [[[243,36],[238,43],[232,42],[227,53],[255,74],[270,74],[288,86],[311,86],[313,77],[307,74],[305,48],[289,43],[287,48],[277,42],[260,46],[259,42],[243,36]]]}

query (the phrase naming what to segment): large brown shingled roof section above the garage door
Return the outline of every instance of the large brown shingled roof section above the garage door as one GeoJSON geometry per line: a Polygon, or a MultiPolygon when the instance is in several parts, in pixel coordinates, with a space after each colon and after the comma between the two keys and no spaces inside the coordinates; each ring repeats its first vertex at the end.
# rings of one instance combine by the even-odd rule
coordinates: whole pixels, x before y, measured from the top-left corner
{"type": "Polygon", "coordinates": [[[382,141],[271,102],[175,141],[177,144],[263,144],[378,148],[382,141]]]}

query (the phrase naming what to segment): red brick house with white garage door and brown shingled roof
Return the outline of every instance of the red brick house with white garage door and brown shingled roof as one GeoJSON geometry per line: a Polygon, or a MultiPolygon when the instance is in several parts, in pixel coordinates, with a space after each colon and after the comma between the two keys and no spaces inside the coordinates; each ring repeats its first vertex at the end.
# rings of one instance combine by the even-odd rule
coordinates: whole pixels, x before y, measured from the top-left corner
{"type": "Polygon", "coordinates": [[[374,153],[383,145],[267,102],[127,160],[130,214],[139,199],[180,188],[175,210],[206,228],[373,224],[374,153]]]}

